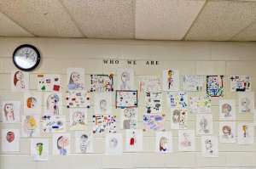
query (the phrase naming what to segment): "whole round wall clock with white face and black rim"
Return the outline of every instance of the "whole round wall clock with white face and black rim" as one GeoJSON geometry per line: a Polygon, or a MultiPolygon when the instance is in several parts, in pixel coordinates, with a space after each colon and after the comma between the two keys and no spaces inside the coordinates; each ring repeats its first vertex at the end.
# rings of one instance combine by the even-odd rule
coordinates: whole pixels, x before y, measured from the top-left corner
{"type": "Polygon", "coordinates": [[[33,70],[40,63],[40,54],[34,46],[24,44],[15,49],[13,61],[15,66],[20,70],[33,70]]]}

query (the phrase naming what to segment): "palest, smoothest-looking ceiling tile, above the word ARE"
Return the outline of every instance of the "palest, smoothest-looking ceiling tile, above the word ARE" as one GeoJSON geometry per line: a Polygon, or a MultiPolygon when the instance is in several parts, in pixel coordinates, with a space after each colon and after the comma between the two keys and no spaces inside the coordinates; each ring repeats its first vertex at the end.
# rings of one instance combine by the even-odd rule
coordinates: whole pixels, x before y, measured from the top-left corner
{"type": "Polygon", "coordinates": [[[181,40],[205,0],[136,1],[136,38],[181,40]]]}

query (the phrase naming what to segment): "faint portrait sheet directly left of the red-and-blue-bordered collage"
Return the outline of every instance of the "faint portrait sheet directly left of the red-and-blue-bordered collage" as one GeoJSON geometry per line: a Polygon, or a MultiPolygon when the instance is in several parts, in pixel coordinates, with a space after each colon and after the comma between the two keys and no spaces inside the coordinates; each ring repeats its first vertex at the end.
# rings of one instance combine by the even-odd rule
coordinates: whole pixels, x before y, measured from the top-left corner
{"type": "Polygon", "coordinates": [[[95,114],[112,113],[112,93],[95,93],[94,94],[94,112],[95,114]]]}

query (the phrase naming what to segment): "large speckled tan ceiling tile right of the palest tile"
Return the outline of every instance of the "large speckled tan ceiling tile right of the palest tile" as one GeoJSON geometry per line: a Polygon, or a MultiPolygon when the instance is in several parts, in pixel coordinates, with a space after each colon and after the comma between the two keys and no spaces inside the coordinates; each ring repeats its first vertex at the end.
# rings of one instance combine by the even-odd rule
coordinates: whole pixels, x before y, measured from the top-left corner
{"type": "Polygon", "coordinates": [[[185,40],[228,41],[256,20],[255,1],[209,1],[185,40]]]}

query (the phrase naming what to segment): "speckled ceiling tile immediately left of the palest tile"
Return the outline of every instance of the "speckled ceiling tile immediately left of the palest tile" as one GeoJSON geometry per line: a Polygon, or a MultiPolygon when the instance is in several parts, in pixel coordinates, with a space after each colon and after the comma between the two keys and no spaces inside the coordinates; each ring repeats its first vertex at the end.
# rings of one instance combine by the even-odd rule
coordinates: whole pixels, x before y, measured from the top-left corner
{"type": "Polygon", "coordinates": [[[134,38],[132,0],[62,0],[85,37],[134,38]]]}

